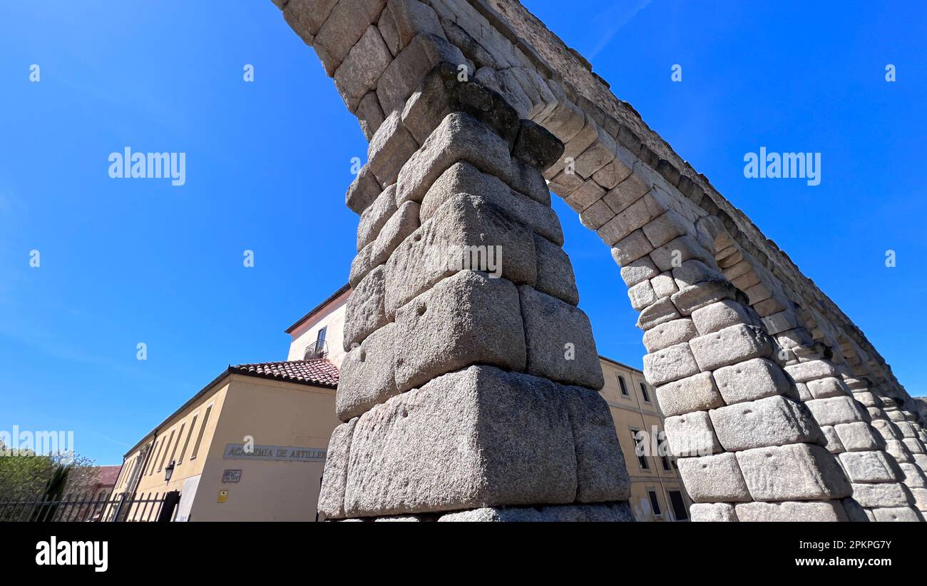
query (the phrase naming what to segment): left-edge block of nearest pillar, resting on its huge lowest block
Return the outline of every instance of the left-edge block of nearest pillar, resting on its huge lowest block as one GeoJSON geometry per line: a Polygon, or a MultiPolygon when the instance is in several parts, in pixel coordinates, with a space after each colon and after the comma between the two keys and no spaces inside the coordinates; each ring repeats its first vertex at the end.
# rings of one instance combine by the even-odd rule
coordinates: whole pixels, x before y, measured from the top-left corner
{"type": "Polygon", "coordinates": [[[335,397],[335,412],[341,421],[349,421],[399,393],[393,376],[393,326],[384,325],[345,355],[335,397]]]}

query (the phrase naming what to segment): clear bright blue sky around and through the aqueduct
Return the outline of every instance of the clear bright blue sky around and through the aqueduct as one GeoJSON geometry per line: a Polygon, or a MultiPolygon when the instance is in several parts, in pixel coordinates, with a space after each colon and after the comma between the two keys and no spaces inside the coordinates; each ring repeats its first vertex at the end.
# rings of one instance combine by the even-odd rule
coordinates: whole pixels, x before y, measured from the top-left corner
{"type": "MultiPolygon", "coordinates": [[[[526,4],[927,394],[923,7],[526,4]],[[759,147],[820,152],[820,185],[744,178],[759,147]]],[[[357,217],[344,191],[366,143],[269,0],[4,13],[0,430],[73,430],[78,452],[119,464],[227,364],[284,360],[286,326],[347,280],[357,217]],[[110,179],[108,155],[126,146],[185,152],[186,184],[110,179]]],[[[554,207],[599,351],[640,366],[607,248],[554,207]]]]}

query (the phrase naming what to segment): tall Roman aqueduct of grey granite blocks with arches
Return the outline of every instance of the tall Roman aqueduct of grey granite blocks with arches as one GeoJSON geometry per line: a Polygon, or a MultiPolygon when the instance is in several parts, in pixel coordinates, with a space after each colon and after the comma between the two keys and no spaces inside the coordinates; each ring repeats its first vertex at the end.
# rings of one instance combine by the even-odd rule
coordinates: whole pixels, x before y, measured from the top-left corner
{"type": "Polygon", "coordinates": [[[273,3],[370,143],[326,516],[630,520],[552,190],[640,312],[693,520],[923,520],[927,436],[891,368],[524,6],[273,3]],[[426,261],[472,247],[501,278],[426,261]]]}

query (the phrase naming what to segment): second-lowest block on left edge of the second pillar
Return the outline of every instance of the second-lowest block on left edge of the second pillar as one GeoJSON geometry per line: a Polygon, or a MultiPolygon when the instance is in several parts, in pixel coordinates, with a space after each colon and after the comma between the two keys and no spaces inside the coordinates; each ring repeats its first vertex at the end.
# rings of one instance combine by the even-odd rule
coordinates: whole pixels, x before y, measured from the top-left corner
{"type": "Polygon", "coordinates": [[[741,503],[750,500],[737,458],[730,452],[679,458],[679,476],[693,503],[741,503]]]}

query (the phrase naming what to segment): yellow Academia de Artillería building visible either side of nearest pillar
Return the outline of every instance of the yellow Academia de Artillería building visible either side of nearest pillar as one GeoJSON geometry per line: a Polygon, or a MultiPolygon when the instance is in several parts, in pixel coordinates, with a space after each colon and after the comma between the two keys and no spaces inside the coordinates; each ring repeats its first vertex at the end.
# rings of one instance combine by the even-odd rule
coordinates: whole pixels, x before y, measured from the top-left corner
{"type": "MultiPolygon", "coordinates": [[[[179,490],[177,520],[315,520],[325,450],[339,423],[335,389],[350,292],[341,287],[286,329],[286,362],[229,366],[139,440],[125,454],[116,492],[179,490]]],[[[663,416],[653,389],[639,370],[600,363],[634,516],[688,519],[679,471],[658,452],[663,416]]]]}

